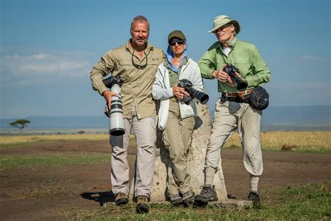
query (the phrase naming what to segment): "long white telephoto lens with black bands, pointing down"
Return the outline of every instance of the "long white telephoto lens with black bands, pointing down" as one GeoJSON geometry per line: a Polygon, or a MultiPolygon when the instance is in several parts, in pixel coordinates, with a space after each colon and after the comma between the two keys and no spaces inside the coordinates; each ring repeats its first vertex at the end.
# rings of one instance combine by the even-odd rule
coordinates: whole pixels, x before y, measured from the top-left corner
{"type": "Polygon", "coordinates": [[[110,104],[109,133],[113,136],[121,136],[125,134],[125,130],[120,85],[116,83],[112,84],[111,91],[116,92],[119,96],[112,96],[112,103],[110,104]]]}

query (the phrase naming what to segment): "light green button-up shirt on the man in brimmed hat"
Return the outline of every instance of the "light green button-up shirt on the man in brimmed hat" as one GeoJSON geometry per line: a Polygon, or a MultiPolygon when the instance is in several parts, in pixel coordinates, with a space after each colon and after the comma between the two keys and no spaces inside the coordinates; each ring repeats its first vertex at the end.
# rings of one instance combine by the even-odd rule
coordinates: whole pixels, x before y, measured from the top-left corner
{"type": "MultiPolygon", "coordinates": [[[[260,56],[258,49],[251,43],[235,39],[228,56],[223,52],[223,45],[219,41],[214,43],[200,58],[198,65],[203,78],[212,79],[212,72],[220,70],[223,65],[233,64],[240,71],[240,76],[248,83],[247,90],[258,87],[270,80],[270,70],[260,56]]],[[[219,92],[237,92],[235,87],[218,81],[219,92]]]]}

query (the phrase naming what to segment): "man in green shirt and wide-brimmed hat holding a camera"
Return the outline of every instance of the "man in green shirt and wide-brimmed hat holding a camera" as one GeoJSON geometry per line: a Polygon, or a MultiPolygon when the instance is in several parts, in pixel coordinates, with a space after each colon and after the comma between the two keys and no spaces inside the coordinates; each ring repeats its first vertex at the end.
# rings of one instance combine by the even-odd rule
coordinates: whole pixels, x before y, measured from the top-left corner
{"type": "Polygon", "coordinates": [[[198,203],[218,200],[212,184],[221,165],[221,148],[237,130],[244,151],[244,167],[250,176],[248,199],[259,202],[258,181],[263,172],[260,149],[262,110],[253,108],[247,101],[256,87],[270,80],[270,70],[253,44],[236,38],[240,32],[240,24],[236,20],[219,15],[214,18],[213,28],[208,32],[214,33],[218,41],[205,52],[198,65],[203,78],[216,78],[221,97],[216,101],[212,134],[207,146],[205,183],[194,200],[198,203]],[[246,89],[235,87],[233,78],[226,73],[227,64],[239,70],[235,76],[242,79],[246,89]]]}

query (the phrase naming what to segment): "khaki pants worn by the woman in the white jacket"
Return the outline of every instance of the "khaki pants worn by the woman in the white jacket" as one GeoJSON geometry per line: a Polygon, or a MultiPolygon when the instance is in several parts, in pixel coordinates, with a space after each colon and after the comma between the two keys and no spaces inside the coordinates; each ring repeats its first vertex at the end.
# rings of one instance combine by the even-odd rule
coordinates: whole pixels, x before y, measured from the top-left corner
{"type": "Polygon", "coordinates": [[[168,194],[179,194],[192,191],[191,176],[187,173],[186,157],[191,143],[194,128],[194,117],[182,119],[179,104],[175,98],[170,99],[168,121],[163,131],[163,143],[169,150],[168,194]]]}

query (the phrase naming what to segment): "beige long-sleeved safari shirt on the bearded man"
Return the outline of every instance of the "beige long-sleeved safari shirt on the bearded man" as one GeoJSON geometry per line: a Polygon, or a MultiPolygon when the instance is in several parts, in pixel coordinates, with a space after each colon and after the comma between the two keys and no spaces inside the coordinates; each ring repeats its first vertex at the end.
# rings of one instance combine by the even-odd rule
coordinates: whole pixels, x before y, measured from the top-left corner
{"type": "Polygon", "coordinates": [[[121,75],[122,104],[124,117],[132,118],[132,108],[135,105],[138,119],[156,115],[155,101],[152,97],[157,67],[163,62],[164,53],[159,48],[147,44],[141,59],[131,46],[131,39],[119,48],[108,51],[96,63],[90,73],[92,88],[102,94],[107,87],[103,77],[121,75]]]}

